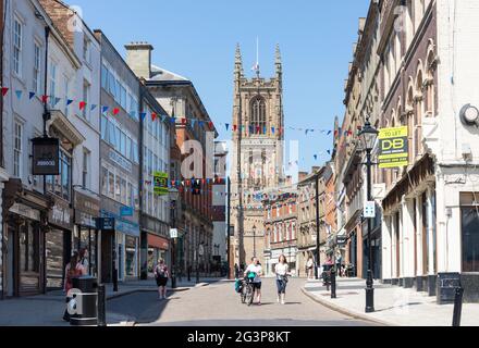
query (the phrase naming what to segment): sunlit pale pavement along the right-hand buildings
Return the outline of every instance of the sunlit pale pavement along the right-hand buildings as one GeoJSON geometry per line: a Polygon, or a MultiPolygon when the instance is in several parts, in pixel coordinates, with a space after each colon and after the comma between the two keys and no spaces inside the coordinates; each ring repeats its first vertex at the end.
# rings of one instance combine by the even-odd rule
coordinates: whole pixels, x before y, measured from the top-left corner
{"type": "MultiPolygon", "coordinates": [[[[454,304],[437,304],[435,297],[415,289],[374,283],[373,313],[365,313],[366,281],[337,278],[336,299],[322,282],[308,281],[303,291],[311,299],[332,310],[360,320],[388,326],[452,326],[454,304]]],[[[479,303],[464,303],[463,326],[479,325],[479,303]]]]}

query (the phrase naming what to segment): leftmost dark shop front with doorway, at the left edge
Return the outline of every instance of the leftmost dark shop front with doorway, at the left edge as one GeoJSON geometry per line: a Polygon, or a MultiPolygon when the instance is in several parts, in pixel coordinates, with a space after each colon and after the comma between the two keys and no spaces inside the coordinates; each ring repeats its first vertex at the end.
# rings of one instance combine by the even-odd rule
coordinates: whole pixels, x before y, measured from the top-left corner
{"type": "Polygon", "coordinates": [[[3,190],[3,291],[5,297],[42,294],[46,226],[50,201],[11,179],[3,190]]]}

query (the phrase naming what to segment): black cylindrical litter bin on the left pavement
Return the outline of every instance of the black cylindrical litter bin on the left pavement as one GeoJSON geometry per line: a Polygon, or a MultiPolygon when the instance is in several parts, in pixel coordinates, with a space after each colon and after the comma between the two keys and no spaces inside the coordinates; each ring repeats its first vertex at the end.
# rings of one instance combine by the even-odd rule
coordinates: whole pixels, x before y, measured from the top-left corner
{"type": "Polygon", "coordinates": [[[72,278],[72,300],[67,304],[70,325],[89,326],[98,322],[98,282],[91,276],[72,278]]]}

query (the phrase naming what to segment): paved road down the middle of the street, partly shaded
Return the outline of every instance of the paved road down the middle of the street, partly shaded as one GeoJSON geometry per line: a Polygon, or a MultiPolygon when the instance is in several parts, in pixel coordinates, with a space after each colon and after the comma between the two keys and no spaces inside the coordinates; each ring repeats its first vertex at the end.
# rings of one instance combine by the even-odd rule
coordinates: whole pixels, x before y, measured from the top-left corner
{"type": "Polygon", "coordinates": [[[242,304],[233,283],[172,294],[159,301],[155,293],[139,293],[109,301],[108,310],[128,315],[138,325],[153,326],[365,326],[361,322],[309,299],[304,279],[288,284],[287,304],[277,303],[273,279],[263,281],[262,306],[242,304]]]}

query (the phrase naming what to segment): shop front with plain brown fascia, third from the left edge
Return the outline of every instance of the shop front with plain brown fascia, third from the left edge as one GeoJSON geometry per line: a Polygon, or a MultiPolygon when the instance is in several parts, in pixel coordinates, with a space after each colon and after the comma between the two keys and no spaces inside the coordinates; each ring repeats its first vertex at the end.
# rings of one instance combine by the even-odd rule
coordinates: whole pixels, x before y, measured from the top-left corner
{"type": "Polygon", "coordinates": [[[99,233],[97,217],[100,215],[100,200],[93,194],[74,192],[73,249],[88,250],[88,274],[99,277],[99,233]]]}

